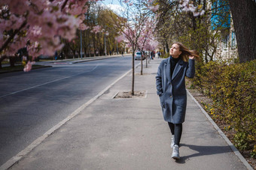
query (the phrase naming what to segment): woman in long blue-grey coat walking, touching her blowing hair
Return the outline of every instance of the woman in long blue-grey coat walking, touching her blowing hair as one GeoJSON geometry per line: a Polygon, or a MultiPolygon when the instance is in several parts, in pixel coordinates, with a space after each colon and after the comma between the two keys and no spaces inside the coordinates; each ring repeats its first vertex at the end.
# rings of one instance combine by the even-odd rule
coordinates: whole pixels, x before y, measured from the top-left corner
{"type": "Polygon", "coordinates": [[[194,77],[194,58],[199,55],[196,51],[187,49],[182,43],[173,43],[169,54],[169,58],[161,61],[158,67],[156,84],[163,118],[168,122],[172,133],[172,158],[179,159],[178,148],[187,106],[185,76],[194,77]]]}

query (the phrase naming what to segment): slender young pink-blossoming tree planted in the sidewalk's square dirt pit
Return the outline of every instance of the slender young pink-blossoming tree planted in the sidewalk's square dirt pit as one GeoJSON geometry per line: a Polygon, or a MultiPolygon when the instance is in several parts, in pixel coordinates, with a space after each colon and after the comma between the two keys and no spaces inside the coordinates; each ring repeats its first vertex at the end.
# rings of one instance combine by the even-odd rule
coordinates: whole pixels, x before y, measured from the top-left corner
{"type": "MultiPolygon", "coordinates": [[[[142,52],[143,49],[149,45],[153,40],[151,37],[153,31],[153,25],[149,22],[151,10],[157,10],[157,7],[153,7],[152,0],[125,0],[120,1],[120,5],[123,7],[122,16],[119,16],[115,26],[120,28],[120,36],[117,41],[123,40],[126,43],[126,47],[129,47],[133,51],[133,78],[132,78],[132,95],[134,95],[134,55],[136,50],[142,52]],[[151,28],[152,27],[152,28],[151,28]]],[[[113,18],[115,19],[115,18],[113,18]]]]}

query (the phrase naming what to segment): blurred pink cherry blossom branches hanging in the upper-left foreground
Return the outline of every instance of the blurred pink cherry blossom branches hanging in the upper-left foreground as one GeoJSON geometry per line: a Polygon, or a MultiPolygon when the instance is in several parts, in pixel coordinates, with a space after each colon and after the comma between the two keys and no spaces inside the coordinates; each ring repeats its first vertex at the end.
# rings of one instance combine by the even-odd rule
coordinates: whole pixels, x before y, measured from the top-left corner
{"type": "Polygon", "coordinates": [[[53,55],[63,46],[60,37],[70,41],[77,28],[88,28],[83,20],[91,1],[98,0],[0,1],[0,63],[24,46],[32,58],[53,55]]]}

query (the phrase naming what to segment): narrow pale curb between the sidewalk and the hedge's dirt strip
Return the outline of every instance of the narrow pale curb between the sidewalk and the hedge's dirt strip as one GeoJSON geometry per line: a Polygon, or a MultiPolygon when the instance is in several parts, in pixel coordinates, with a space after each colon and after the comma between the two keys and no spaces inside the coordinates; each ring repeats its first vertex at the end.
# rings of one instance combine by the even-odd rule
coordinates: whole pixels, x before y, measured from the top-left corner
{"type": "Polygon", "coordinates": [[[227,136],[222,132],[222,130],[218,127],[218,125],[215,124],[215,121],[212,120],[212,118],[208,115],[208,113],[205,111],[205,109],[203,109],[203,107],[200,105],[200,103],[197,102],[197,100],[193,97],[192,94],[190,94],[190,92],[188,90],[187,90],[187,94],[189,94],[190,97],[192,98],[192,100],[194,100],[194,102],[197,103],[197,106],[200,107],[203,114],[206,115],[206,118],[211,122],[213,127],[215,127],[215,130],[217,130],[218,133],[221,135],[221,137],[227,142],[227,145],[230,146],[230,148],[232,149],[234,154],[236,154],[236,156],[245,165],[245,167],[249,170],[253,170],[252,167],[250,166],[250,164],[245,160],[245,158],[242,157],[242,154],[240,154],[240,152],[236,149],[236,147],[232,144],[232,142],[230,142],[230,139],[227,138],[227,136]]]}

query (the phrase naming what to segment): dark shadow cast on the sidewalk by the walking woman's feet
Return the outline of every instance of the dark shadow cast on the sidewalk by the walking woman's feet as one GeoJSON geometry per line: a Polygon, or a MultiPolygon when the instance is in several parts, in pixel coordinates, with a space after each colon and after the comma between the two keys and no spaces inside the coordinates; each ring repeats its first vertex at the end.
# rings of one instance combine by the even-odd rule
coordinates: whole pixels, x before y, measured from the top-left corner
{"type": "Polygon", "coordinates": [[[186,161],[189,160],[191,157],[200,157],[205,155],[223,154],[227,152],[232,152],[229,146],[200,146],[200,145],[181,144],[181,149],[184,147],[188,147],[191,150],[197,151],[197,153],[181,157],[179,160],[175,160],[176,163],[186,163],[186,161]]]}

